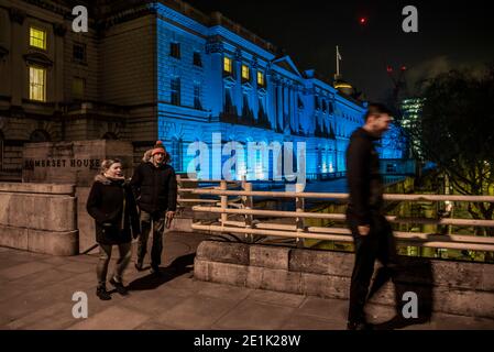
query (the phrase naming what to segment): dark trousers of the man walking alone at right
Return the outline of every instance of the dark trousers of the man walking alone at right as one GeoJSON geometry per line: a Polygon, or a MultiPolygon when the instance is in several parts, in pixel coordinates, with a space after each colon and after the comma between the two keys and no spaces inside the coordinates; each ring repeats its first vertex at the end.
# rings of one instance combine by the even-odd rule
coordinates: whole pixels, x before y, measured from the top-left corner
{"type": "Polygon", "coordinates": [[[355,246],[355,264],[350,284],[349,321],[364,322],[364,306],[369,285],[374,273],[374,262],[377,258],[383,268],[381,275],[394,277],[396,264],[396,245],[393,230],[381,213],[371,215],[371,228],[367,235],[361,235],[358,222],[351,212],[347,212],[347,222],[352,231],[355,246]]]}

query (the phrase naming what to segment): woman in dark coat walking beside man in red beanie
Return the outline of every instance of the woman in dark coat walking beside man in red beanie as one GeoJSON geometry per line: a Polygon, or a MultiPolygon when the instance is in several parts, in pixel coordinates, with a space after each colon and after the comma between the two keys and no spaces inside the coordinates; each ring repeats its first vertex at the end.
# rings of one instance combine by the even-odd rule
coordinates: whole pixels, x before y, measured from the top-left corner
{"type": "Polygon", "coordinates": [[[139,213],[131,188],[122,176],[122,164],[118,160],[101,163],[101,173],[95,177],[87,211],[95,219],[96,241],[99,244],[97,265],[97,296],[102,300],[111,299],[107,292],[107,272],[113,245],[118,245],[120,257],[110,284],[121,295],[127,294],[122,275],[131,260],[132,237],[140,234],[139,213]]]}

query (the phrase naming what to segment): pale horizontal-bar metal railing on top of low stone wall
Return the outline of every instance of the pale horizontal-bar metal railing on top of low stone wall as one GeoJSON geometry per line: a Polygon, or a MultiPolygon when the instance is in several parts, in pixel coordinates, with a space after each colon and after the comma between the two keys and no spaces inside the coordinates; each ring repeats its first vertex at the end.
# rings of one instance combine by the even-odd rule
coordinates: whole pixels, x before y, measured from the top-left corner
{"type": "MultiPolygon", "coordinates": [[[[178,179],[180,184],[180,180],[178,179]]],[[[316,239],[326,241],[353,242],[351,232],[347,227],[312,227],[305,226],[304,219],[328,219],[344,221],[344,213],[321,213],[310,212],[305,209],[305,199],[330,199],[348,200],[348,194],[334,193],[304,193],[304,191],[262,191],[252,190],[252,184],[248,182],[208,180],[209,184],[218,184],[208,188],[182,188],[179,187],[179,204],[198,204],[191,209],[196,212],[218,213],[217,224],[204,223],[201,221],[193,223],[193,229],[207,231],[210,233],[239,233],[245,237],[278,237],[292,238],[297,242],[304,239],[316,239]],[[242,189],[229,189],[241,187],[242,189]],[[230,186],[230,187],[229,187],[230,186]],[[218,199],[187,199],[183,195],[215,196],[218,199]],[[229,200],[228,197],[235,197],[229,200]],[[253,197],[267,199],[294,199],[295,211],[254,209],[253,197]],[[240,202],[239,202],[240,201],[240,202]],[[229,220],[230,216],[241,216],[243,221],[229,220]],[[254,217],[295,218],[295,224],[263,222],[254,217]]],[[[297,189],[300,189],[298,187],[297,189]]],[[[491,196],[458,196],[458,195],[402,195],[386,194],[384,200],[391,201],[468,201],[468,202],[494,202],[491,196]]],[[[494,228],[494,220],[477,219],[426,219],[426,218],[400,218],[397,216],[386,216],[392,223],[420,223],[437,226],[466,226],[494,228]]],[[[404,232],[394,231],[394,235],[399,244],[494,252],[494,238],[464,235],[464,234],[438,234],[426,232],[404,232]]]]}

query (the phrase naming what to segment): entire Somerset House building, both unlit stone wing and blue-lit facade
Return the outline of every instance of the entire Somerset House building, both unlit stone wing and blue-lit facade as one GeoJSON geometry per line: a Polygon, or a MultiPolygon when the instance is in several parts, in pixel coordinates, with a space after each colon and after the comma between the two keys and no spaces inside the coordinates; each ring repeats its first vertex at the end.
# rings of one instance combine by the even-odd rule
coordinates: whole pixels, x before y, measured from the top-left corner
{"type": "MultiPolygon", "coordinates": [[[[215,143],[305,142],[315,178],[344,172],[349,138],[363,123],[365,102],[220,13],[178,0],[0,0],[0,19],[2,170],[22,165],[30,141],[119,139],[139,162],[160,139],[178,172],[215,143]],[[84,3],[89,32],[74,33],[72,7],[84,3]]],[[[402,157],[394,147],[380,153],[402,157]]],[[[259,153],[254,165],[237,157],[237,177],[272,176],[272,156],[259,153]]]]}

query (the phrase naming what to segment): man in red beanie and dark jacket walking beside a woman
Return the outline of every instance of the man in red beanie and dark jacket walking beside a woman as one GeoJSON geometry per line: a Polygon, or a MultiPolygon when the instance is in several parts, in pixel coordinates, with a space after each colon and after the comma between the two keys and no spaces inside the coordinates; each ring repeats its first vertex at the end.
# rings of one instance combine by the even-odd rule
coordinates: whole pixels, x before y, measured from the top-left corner
{"type": "Polygon", "coordinates": [[[141,211],[141,237],[139,239],[138,271],[143,270],[147,239],[153,228],[151,272],[160,274],[163,252],[163,233],[166,220],[172,221],[177,206],[177,182],[174,168],[167,164],[168,153],[161,141],[151,152],[151,160],[135,168],[131,186],[141,211]]]}

